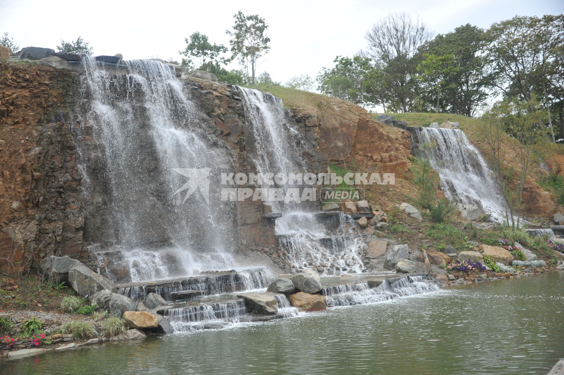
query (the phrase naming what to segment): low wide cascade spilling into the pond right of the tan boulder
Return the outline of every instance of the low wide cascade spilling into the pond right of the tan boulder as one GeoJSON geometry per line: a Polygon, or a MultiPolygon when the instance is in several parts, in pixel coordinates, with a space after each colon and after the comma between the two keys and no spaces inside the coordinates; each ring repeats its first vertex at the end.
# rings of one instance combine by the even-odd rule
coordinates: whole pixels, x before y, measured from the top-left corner
{"type": "Polygon", "coordinates": [[[321,290],[328,307],[364,305],[407,297],[409,295],[437,292],[439,287],[427,283],[422,276],[404,276],[396,280],[386,279],[376,288],[368,283],[340,284],[321,290]]]}

